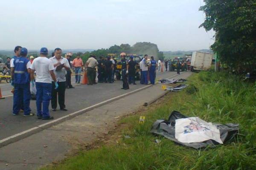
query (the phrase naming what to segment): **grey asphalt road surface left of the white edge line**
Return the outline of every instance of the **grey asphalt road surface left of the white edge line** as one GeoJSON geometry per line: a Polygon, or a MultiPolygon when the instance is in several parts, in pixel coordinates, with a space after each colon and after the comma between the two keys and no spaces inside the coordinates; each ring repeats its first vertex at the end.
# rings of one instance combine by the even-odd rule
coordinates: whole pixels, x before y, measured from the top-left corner
{"type": "MultiPolygon", "coordinates": [[[[176,72],[164,72],[163,74],[157,73],[157,79],[171,77],[175,74],[176,72]]],[[[3,86],[5,91],[11,90],[10,84],[9,87],[6,84],[3,84],[3,86]]],[[[53,112],[50,110],[50,114],[56,119],[91,105],[95,105],[99,102],[103,102],[107,99],[128,93],[129,91],[136,90],[143,86],[145,85],[140,85],[139,81],[137,82],[137,85],[130,85],[129,90],[121,89],[122,81],[115,81],[112,84],[99,83],[93,86],[77,85],[73,89],[66,90],[65,104],[68,111],[57,110],[56,112],[53,112]]],[[[24,130],[47,122],[47,120],[37,119],[37,116],[24,117],[23,113],[20,113],[18,116],[13,116],[12,100],[12,96],[0,99],[0,139],[4,139],[8,136],[12,136],[16,133],[20,133],[24,130]]],[[[30,102],[30,107],[32,109],[32,113],[36,113],[35,100],[30,102]]],[[[51,106],[49,106],[49,108],[51,108],[51,106]]]]}

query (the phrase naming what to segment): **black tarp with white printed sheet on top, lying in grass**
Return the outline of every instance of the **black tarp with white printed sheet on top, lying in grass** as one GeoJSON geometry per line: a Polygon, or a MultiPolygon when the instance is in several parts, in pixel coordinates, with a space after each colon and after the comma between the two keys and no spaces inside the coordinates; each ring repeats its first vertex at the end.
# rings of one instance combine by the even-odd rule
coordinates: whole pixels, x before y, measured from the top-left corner
{"type": "Polygon", "coordinates": [[[151,133],[199,149],[227,143],[236,136],[238,130],[238,124],[208,123],[198,117],[187,117],[173,111],[168,120],[160,119],[154,122],[151,133]]]}

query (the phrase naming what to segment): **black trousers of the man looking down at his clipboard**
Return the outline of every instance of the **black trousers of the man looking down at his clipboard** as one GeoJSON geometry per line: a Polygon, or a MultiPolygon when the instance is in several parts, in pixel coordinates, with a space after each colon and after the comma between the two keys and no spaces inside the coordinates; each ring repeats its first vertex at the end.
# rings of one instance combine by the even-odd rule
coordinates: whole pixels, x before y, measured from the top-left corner
{"type": "Polygon", "coordinates": [[[52,108],[57,108],[57,93],[58,93],[58,103],[61,109],[66,108],[65,106],[65,91],[66,91],[66,82],[58,82],[59,87],[55,89],[55,83],[52,82],[52,108]]]}

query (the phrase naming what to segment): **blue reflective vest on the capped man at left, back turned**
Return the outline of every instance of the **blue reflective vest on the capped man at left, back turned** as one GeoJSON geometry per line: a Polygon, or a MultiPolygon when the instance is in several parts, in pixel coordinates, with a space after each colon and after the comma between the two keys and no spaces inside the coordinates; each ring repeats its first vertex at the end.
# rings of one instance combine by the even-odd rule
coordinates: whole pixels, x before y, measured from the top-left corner
{"type": "Polygon", "coordinates": [[[14,83],[26,84],[29,82],[29,73],[26,65],[29,62],[26,57],[17,57],[14,59],[14,83]]]}

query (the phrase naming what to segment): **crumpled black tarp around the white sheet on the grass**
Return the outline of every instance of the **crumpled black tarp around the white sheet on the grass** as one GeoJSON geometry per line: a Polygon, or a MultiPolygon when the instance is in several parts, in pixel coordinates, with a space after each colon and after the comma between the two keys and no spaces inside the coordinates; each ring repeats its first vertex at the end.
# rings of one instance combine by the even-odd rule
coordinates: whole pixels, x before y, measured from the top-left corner
{"type": "MultiPolygon", "coordinates": [[[[214,140],[207,140],[204,142],[194,142],[194,143],[183,143],[177,141],[175,139],[175,120],[176,119],[183,119],[183,118],[188,118],[187,116],[184,116],[178,111],[173,111],[171,115],[169,116],[168,120],[165,119],[160,119],[154,122],[152,128],[151,128],[151,133],[161,135],[166,137],[167,139],[170,139],[178,144],[182,144],[188,147],[193,147],[195,149],[199,149],[202,147],[215,147],[215,145],[218,145],[218,142],[215,142],[214,140]]],[[[216,125],[217,128],[220,130],[220,137],[221,141],[225,144],[227,142],[230,142],[238,133],[239,130],[239,124],[233,124],[233,123],[228,123],[228,124],[217,124],[217,123],[212,123],[212,125],[216,125]]]]}

